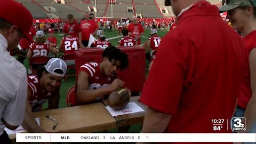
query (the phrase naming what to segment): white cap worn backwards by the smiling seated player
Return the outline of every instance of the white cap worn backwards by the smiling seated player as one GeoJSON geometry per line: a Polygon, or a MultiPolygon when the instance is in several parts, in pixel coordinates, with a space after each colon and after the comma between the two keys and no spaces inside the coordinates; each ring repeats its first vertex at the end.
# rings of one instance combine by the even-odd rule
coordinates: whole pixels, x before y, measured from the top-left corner
{"type": "Polygon", "coordinates": [[[55,75],[55,76],[60,76],[60,77],[64,77],[66,75],[66,71],[67,71],[67,65],[66,63],[59,58],[52,58],[48,61],[47,65],[45,66],[45,69],[55,75]],[[60,69],[63,71],[63,73],[57,73],[55,70],[60,69]]]}

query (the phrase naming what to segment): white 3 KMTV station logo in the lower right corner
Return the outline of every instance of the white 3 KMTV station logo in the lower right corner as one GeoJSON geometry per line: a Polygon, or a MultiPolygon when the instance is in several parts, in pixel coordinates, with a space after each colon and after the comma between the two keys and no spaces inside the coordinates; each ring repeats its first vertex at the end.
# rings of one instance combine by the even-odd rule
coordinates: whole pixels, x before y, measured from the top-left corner
{"type": "Polygon", "coordinates": [[[238,132],[238,131],[245,131],[246,130],[246,118],[244,117],[233,117],[231,119],[231,130],[238,132]]]}

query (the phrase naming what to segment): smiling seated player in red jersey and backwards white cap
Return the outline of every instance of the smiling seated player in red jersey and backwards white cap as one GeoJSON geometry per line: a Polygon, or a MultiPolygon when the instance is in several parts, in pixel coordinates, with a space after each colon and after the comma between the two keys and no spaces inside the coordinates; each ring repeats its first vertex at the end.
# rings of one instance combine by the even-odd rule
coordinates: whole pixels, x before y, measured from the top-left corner
{"type": "Polygon", "coordinates": [[[38,68],[37,75],[28,75],[28,94],[26,111],[22,126],[33,133],[46,133],[40,127],[32,113],[42,110],[42,105],[48,100],[49,107],[59,107],[60,84],[67,71],[66,63],[58,58],[50,59],[45,67],[38,68]]]}

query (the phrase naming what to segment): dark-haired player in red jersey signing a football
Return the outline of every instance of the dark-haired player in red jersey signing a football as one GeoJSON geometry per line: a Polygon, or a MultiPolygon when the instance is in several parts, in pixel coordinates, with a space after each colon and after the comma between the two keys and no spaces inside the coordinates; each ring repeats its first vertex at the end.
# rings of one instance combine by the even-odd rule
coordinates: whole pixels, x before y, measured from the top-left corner
{"type": "Polygon", "coordinates": [[[116,72],[127,68],[127,54],[110,46],[103,51],[102,57],[100,63],[89,62],[80,67],[76,97],[71,100],[71,106],[100,101],[104,95],[123,87],[124,82],[118,79],[116,72]]]}

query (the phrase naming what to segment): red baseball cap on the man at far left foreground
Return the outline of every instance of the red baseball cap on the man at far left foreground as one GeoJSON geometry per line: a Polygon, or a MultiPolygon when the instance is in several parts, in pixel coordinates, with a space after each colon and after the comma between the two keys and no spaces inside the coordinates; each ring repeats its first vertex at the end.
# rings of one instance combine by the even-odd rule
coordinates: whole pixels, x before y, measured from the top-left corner
{"type": "Polygon", "coordinates": [[[33,17],[21,3],[14,0],[0,0],[0,18],[17,26],[26,36],[26,39],[33,41],[31,36],[29,36],[33,17]]]}

